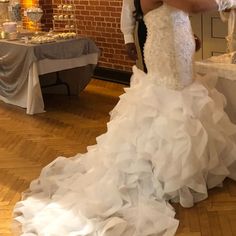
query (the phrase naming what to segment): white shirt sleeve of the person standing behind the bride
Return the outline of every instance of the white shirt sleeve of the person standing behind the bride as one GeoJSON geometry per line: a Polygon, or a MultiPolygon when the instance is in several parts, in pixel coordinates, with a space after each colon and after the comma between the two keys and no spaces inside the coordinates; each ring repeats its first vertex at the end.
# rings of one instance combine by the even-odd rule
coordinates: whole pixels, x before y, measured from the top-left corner
{"type": "Polygon", "coordinates": [[[120,28],[124,34],[125,44],[134,43],[135,19],[133,12],[135,11],[134,0],[123,0],[120,28]]]}

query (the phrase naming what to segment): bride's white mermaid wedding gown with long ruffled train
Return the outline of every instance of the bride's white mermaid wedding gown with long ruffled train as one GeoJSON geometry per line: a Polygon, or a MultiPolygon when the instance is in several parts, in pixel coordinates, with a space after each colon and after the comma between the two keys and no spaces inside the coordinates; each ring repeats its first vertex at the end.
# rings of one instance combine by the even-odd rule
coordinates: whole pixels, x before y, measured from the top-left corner
{"type": "Polygon", "coordinates": [[[191,207],[236,179],[236,126],[224,96],[193,80],[189,17],[166,1],[144,16],[148,73],[134,67],[96,145],[58,157],[31,183],[14,209],[21,235],[174,235],[169,201],[191,207]]]}

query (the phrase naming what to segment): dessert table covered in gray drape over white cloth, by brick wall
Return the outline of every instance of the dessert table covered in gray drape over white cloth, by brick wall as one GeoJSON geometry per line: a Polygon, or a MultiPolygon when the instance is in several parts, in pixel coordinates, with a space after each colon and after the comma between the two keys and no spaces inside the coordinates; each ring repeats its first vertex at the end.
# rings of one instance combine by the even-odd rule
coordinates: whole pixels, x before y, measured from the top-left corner
{"type": "Polygon", "coordinates": [[[26,108],[27,114],[44,112],[39,75],[83,68],[78,83],[84,88],[98,57],[99,49],[88,38],[43,44],[0,40],[0,100],[26,108]]]}

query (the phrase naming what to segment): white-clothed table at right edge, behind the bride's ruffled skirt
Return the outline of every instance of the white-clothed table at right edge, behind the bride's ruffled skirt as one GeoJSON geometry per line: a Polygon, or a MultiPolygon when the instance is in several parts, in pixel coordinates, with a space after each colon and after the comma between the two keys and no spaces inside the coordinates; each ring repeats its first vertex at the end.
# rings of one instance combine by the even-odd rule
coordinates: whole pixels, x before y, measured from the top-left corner
{"type": "Polygon", "coordinates": [[[209,75],[214,86],[227,99],[225,108],[230,119],[236,123],[236,64],[215,62],[211,60],[195,63],[196,72],[201,75],[209,75]],[[215,78],[215,79],[214,79],[215,78]]]}

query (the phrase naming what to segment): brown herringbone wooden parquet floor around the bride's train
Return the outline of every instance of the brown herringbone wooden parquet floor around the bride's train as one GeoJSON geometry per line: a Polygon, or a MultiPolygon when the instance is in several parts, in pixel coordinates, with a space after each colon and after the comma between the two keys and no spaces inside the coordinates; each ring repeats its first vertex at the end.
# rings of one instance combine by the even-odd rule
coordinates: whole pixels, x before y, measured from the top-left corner
{"type": "MultiPolygon", "coordinates": [[[[43,166],[57,156],[85,152],[106,131],[123,86],[93,80],[79,97],[45,95],[46,113],[34,116],[0,102],[0,236],[11,236],[12,209],[43,166]]],[[[177,236],[236,236],[236,183],[209,191],[193,208],[174,205],[177,236]]],[[[66,236],[66,235],[65,235],[66,236]]]]}

